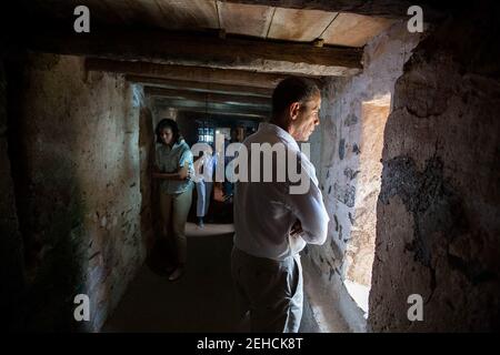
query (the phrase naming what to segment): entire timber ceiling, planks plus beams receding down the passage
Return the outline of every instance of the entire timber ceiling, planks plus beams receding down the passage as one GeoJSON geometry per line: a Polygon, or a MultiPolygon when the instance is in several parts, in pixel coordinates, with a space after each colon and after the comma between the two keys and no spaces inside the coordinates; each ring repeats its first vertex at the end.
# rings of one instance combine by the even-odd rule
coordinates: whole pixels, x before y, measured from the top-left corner
{"type": "Polygon", "coordinates": [[[362,69],[360,49],[403,16],[399,8],[391,10],[397,14],[392,18],[367,16],[362,7],[361,14],[349,13],[342,6],[331,8],[321,1],[312,9],[287,6],[296,2],[34,0],[26,9],[37,17],[63,21],[73,18],[76,6],[88,6],[92,21],[118,34],[91,31],[87,37],[70,38],[56,31],[41,33],[33,45],[87,55],[89,71],[124,73],[129,81],[144,85],[158,106],[260,120],[269,115],[272,88],[287,73],[357,73],[362,69]],[[141,32],[143,29],[156,32],[141,32]],[[188,32],[219,37],[190,37],[188,32]],[[318,39],[323,48],[311,44],[318,39]]]}

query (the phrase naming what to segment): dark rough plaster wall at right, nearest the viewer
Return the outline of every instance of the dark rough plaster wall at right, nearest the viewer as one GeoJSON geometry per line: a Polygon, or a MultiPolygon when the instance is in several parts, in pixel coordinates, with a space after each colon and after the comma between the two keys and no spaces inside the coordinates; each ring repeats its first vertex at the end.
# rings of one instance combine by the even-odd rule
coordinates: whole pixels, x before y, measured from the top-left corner
{"type": "Polygon", "coordinates": [[[499,7],[416,50],[386,129],[372,331],[500,328],[499,7]],[[407,298],[423,297],[409,322],[407,298]]]}

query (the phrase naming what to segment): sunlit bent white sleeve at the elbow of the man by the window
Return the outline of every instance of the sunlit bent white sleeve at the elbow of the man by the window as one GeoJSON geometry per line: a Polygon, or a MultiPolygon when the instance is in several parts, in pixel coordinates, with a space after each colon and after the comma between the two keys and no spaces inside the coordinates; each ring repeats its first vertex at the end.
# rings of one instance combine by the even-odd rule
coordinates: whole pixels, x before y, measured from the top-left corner
{"type": "Polygon", "coordinates": [[[288,205],[302,226],[301,237],[309,244],[322,245],[328,235],[328,216],[321,191],[311,180],[304,194],[289,194],[288,205]]]}

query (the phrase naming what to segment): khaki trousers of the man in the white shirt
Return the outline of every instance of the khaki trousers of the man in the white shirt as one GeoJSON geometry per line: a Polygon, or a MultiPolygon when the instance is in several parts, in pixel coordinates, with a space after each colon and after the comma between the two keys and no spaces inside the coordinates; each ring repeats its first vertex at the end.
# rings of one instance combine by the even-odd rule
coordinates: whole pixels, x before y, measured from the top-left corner
{"type": "Polygon", "coordinates": [[[233,247],[231,273],[240,316],[250,311],[252,332],[299,331],[303,307],[299,254],[283,261],[274,261],[256,257],[233,247]]]}

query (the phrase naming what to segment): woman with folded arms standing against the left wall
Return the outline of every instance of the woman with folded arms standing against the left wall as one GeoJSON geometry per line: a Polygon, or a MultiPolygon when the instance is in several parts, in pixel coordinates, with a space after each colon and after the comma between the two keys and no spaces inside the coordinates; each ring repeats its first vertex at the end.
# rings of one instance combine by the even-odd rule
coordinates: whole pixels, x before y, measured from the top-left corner
{"type": "Polygon", "coordinates": [[[177,252],[177,265],[169,276],[174,281],[182,276],[187,261],[186,223],[191,209],[193,159],[176,121],[161,120],[154,132],[159,146],[152,178],[160,181],[162,236],[177,252]]]}

